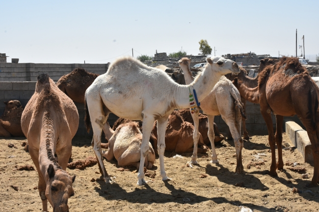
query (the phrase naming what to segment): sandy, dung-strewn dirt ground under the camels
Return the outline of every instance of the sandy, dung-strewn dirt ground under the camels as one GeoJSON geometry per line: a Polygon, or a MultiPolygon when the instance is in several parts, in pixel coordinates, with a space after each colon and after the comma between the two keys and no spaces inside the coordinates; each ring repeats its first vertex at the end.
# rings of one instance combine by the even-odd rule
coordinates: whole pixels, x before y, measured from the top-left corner
{"type": "MultiPolygon", "coordinates": [[[[37,172],[14,170],[20,165],[33,165],[29,153],[21,146],[26,139],[0,139],[0,211],[41,211],[41,199],[38,190],[34,189],[38,184],[37,172]],[[9,143],[17,148],[9,148],[9,143]],[[11,186],[17,186],[18,191],[11,186]]],[[[284,148],[290,146],[285,133],[283,139],[284,148]]],[[[94,156],[90,146],[91,139],[76,137],[72,143],[73,161],[94,156]]],[[[170,157],[171,153],[165,152],[165,168],[172,180],[161,181],[157,158],[152,168],[157,175],[155,178],[145,177],[148,181],[145,186],[136,186],[137,173],[133,168],[129,171],[117,171],[115,161],[104,161],[108,173],[115,177],[116,183],[113,184],[90,181],[100,177],[98,165],[84,170],[67,168],[71,176],[77,175],[73,184],[75,195],[68,203],[70,211],[239,212],[240,206],[249,207],[254,212],[319,210],[319,188],[305,187],[310,183],[314,169],[302,162],[302,155],[296,149],[283,151],[284,163],[300,163],[306,168],[302,173],[309,173],[310,179],[302,179],[302,173],[289,170],[287,167],[290,166],[287,165],[283,171],[277,171],[278,177],[267,175],[271,163],[267,136],[253,136],[250,141],[244,141],[242,158],[245,174],[242,175],[234,174],[234,141],[217,144],[216,152],[219,164],[209,162],[209,151],[208,154],[198,155],[199,165],[193,168],[186,165],[190,160],[190,153],[184,154],[183,158],[173,158],[170,157]],[[266,156],[258,156],[258,153],[266,156]],[[265,165],[247,168],[249,163],[258,161],[264,161],[265,165]],[[299,193],[293,193],[293,187],[299,193]]],[[[49,209],[52,211],[51,207],[49,209]]]]}

